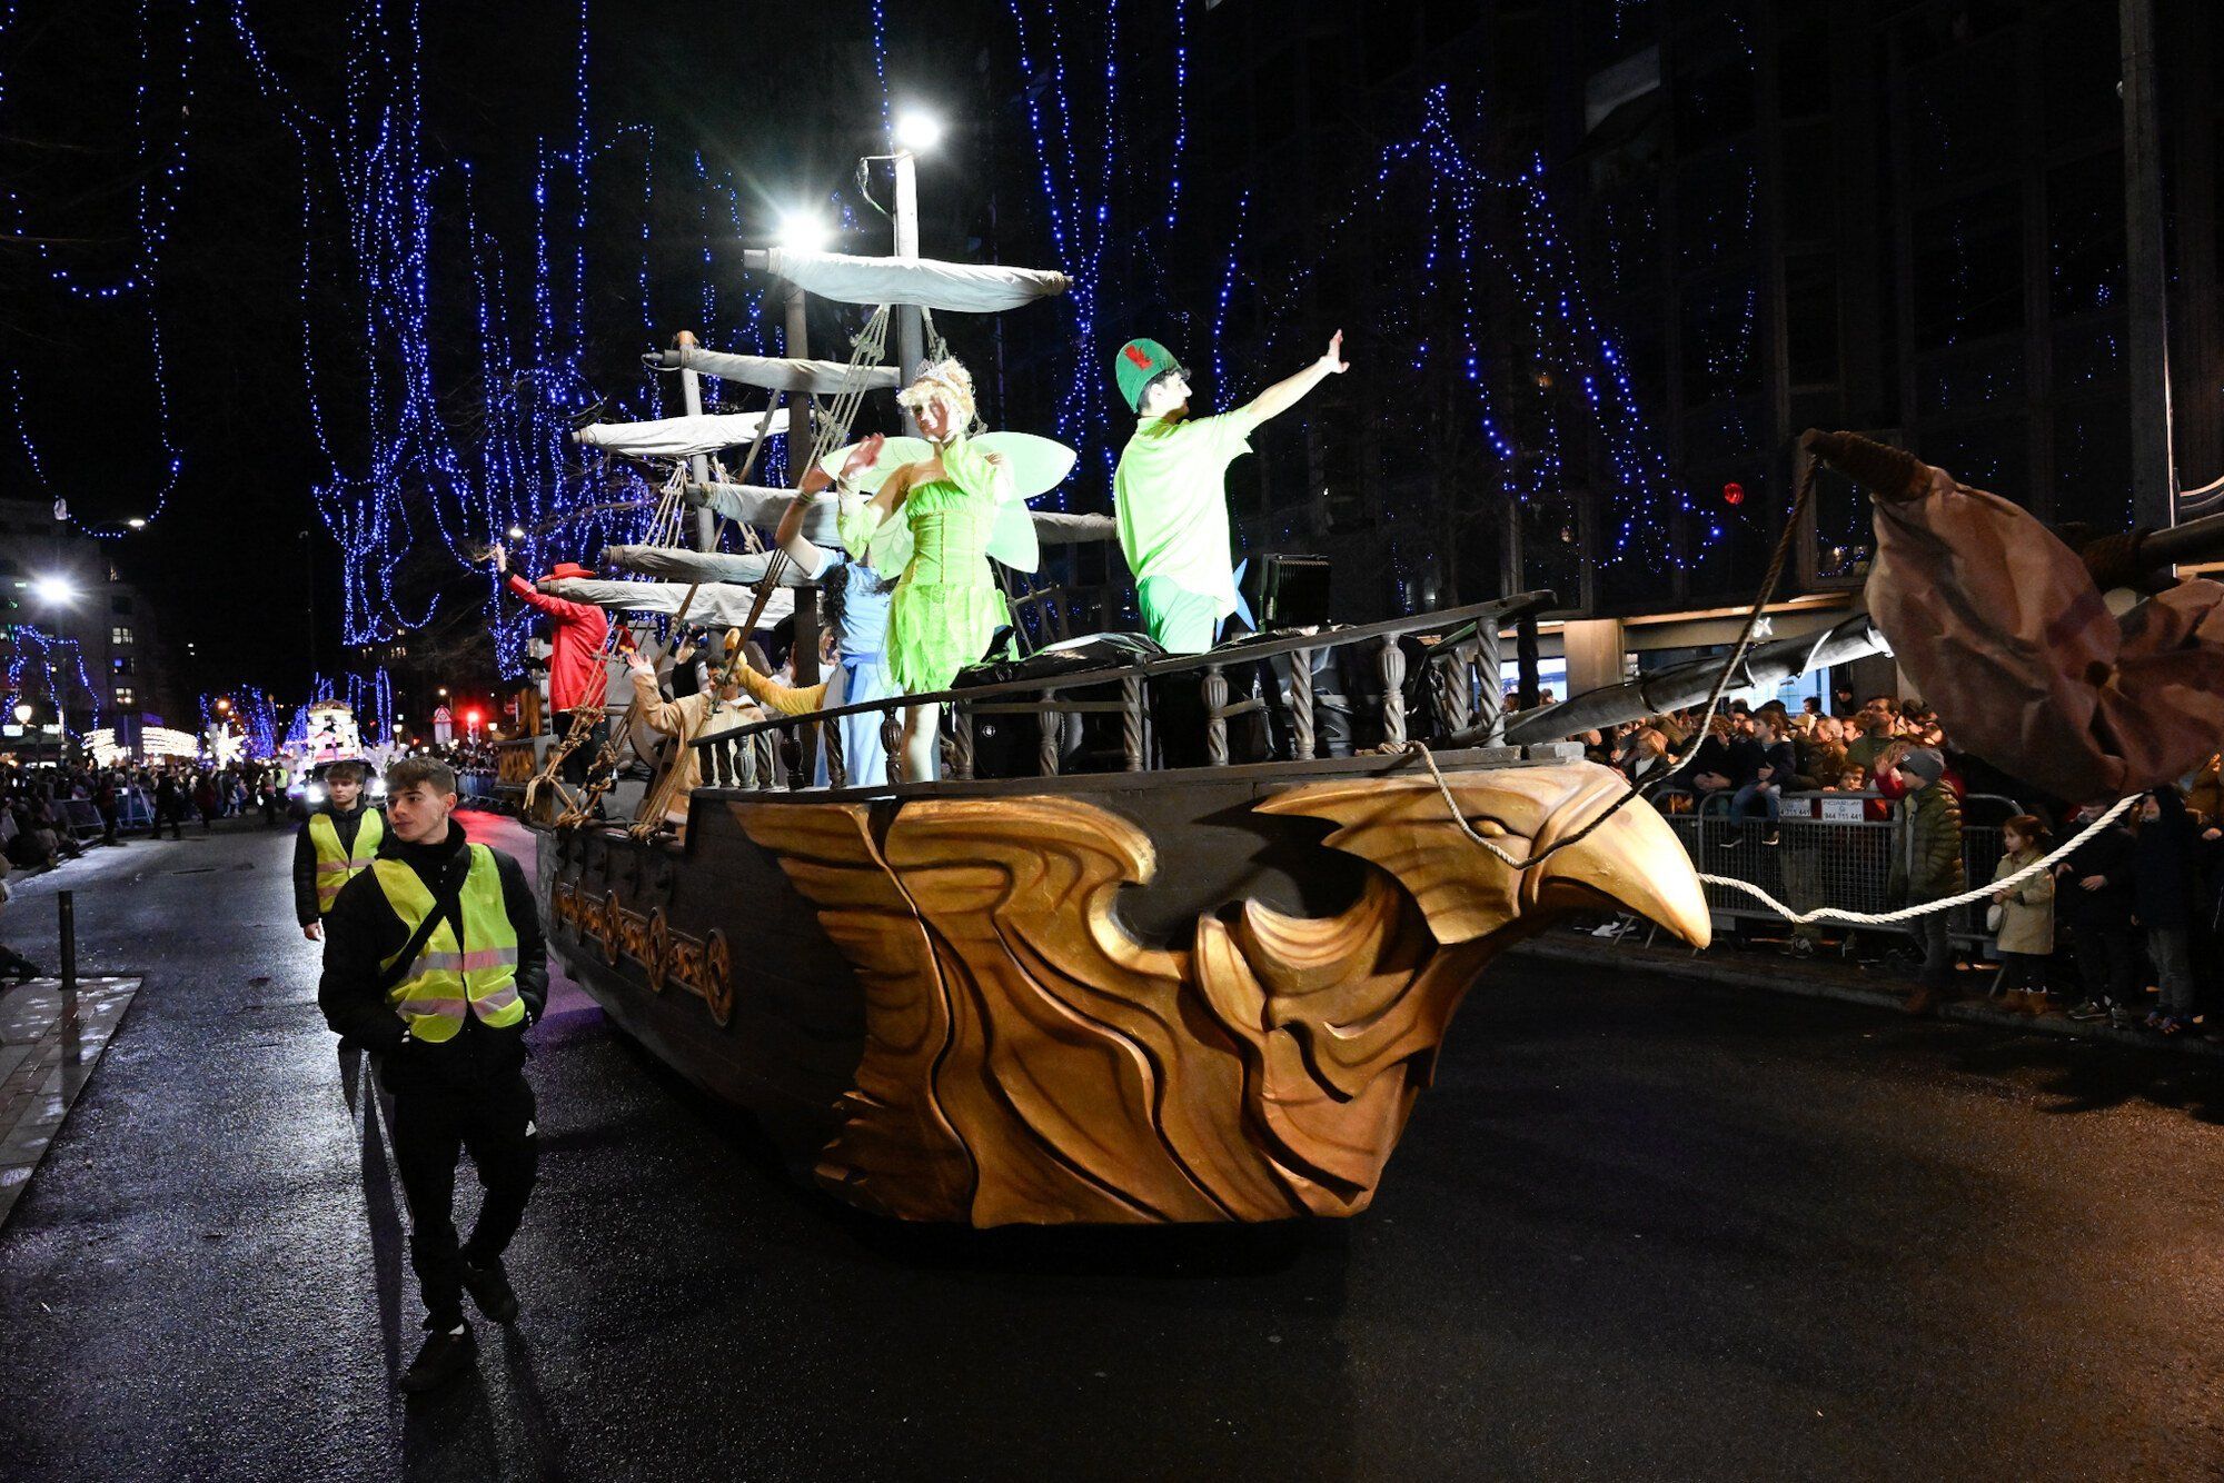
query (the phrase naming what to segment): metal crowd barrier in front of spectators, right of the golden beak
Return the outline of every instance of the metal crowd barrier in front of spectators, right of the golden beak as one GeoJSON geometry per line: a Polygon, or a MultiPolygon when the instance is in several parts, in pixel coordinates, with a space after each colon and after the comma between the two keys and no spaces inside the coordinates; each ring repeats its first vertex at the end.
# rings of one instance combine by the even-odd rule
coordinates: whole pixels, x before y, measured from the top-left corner
{"type": "MultiPolygon", "coordinates": [[[[1837,907],[1841,912],[1890,912],[1893,825],[1879,818],[1813,818],[1819,803],[1866,805],[1882,794],[1784,794],[1777,845],[1764,845],[1764,818],[1730,818],[1730,794],[1708,794],[1692,812],[1670,812],[1668,827],[1684,843],[1692,865],[1710,876],[1728,876],[1761,887],[1795,912],[1837,907]],[[1735,843],[1732,843],[1735,840],[1735,843]]],[[[1853,809],[1866,814],[1866,809],[1853,809]]],[[[1999,865],[1999,825],[2022,814],[2015,798],[1968,794],[1962,800],[1962,874],[1966,887],[1984,885],[1999,865]],[[1988,820],[1988,823],[1979,823],[1988,820]]],[[[1781,923],[1753,896],[1726,885],[1706,887],[1706,905],[1717,918],[1781,923]]],[[[1962,945],[1990,940],[1984,900],[1957,907],[1948,918],[1962,945]]],[[[1844,923],[1830,923],[1844,929],[1844,923]]],[[[1884,927],[1884,932],[1899,932],[1884,927]]]]}

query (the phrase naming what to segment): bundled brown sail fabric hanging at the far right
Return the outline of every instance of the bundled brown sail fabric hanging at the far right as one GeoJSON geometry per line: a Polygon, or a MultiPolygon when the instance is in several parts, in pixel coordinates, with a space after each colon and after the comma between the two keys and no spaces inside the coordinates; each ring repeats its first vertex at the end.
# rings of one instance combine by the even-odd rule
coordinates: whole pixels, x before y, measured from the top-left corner
{"type": "Polygon", "coordinates": [[[1868,611],[1948,736],[2071,803],[2175,780],[2224,740],[2224,585],[2122,618],[2026,509],[1926,465],[1877,498],[1868,611]]]}

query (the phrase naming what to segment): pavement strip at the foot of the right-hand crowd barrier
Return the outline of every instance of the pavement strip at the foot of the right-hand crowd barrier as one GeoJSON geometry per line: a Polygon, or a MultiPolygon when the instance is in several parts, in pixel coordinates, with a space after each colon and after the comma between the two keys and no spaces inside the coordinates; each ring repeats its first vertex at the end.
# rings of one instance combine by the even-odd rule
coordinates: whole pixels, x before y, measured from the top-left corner
{"type": "MultiPolygon", "coordinates": [[[[1675,945],[1644,945],[1646,925],[1621,938],[1599,938],[1588,932],[1548,932],[1521,943],[1512,952],[1552,963],[1581,963],[1604,969],[1641,969],[1648,974],[1670,974],[1699,983],[1730,985],[1741,989],[1768,989],[1770,994],[1797,994],[1804,998],[1839,998],[1850,1005],[1873,1005],[1897,1012],[1913,989],[1913,978],[1890,969],[1864,969],[1835,954],[1797,958],[1777,952],[1775,943],[1739,947],[1735,940],[1717,940],[1706,952],[1675,945]]],[[[1937,1009],[1937,1018],[1964,1021],[1970,1025],[1993,1025],[1995,1029],[2028,1029],[2033,1034],[2073,1036],[2079,1041],[2104,1041],[2131,1049],[2184,1052],[2188,1056],[2224,1058],[2224,1043],[2206,1041],[2200,1032],[2160,1036],[2151,1029],[2117,1029],[2108,1021],[2073,1021],[2066,1014],[2015,1014],[2002,1009],[1986,996],[1993,985],[1993,965],[1966,967],[1962,987],[1937,1009]]],[[[2211,1016],[2213,1018],[2213,1016],[2211,1016]]],[[[2204,1029],[2208,1025],[2204,1023],[2204,1029]]]]}

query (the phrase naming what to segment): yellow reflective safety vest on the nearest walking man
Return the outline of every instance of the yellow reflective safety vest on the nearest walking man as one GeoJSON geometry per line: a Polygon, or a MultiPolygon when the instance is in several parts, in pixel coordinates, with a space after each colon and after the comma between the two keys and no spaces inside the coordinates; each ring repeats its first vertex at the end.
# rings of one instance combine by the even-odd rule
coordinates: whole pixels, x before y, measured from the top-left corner
{"type": "MultiPolygon", "coordinates": [[[[518,929],[509,925],[509,909],[503,905],[503,876],[492,849],[469,849],[471,869],[458,894],[465,940],[458,943],[454,923],[440,918],[409,965],[409,978],[387,989],[387,1003],[409,1025],[409,1034],[434,1045],[454,1041],[465,1014],[476,1014],[496,1029],[525,1021],[525,1001],[518,998],[518,929]]],[[[416,936],[418,923],[431,916],[431,892],[400,860],[376,860],[371,876],[387,894],[394,916],[416,936]]],[[[394,958],[380,967],[394,967],[394,958]]]]}

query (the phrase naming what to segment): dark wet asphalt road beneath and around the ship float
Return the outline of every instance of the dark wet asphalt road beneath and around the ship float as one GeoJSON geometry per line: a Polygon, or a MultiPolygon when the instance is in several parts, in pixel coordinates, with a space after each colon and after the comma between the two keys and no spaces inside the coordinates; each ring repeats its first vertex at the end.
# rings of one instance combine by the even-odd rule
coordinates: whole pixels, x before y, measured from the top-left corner
{"type": "Polygon", "coordinates": [[[133,843],[0,916],[51,963],[73,885],[85,969],[147,976],[0,1230],[0,1476],[2224,1472],[2211,1065],[1519,963],[1374,1210],[1268,1232],[852,1216],[558,985],[525,1318],[405,1405],[285,849],[133,843]]]}

